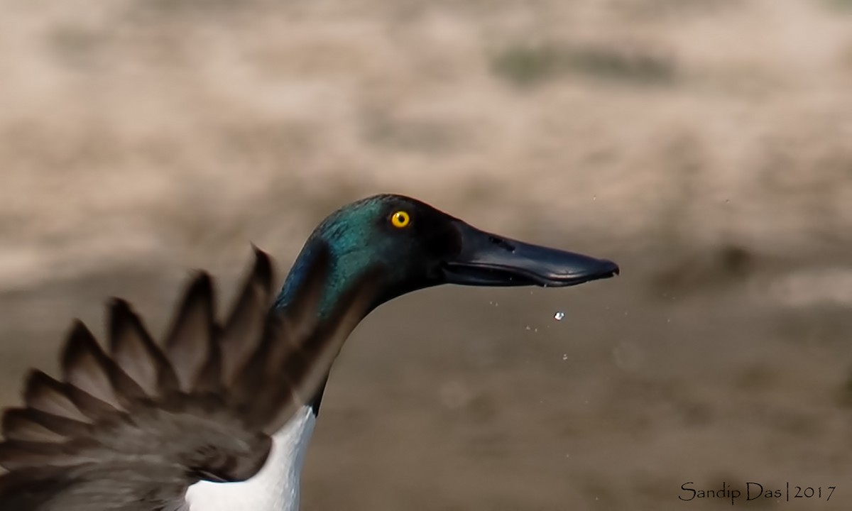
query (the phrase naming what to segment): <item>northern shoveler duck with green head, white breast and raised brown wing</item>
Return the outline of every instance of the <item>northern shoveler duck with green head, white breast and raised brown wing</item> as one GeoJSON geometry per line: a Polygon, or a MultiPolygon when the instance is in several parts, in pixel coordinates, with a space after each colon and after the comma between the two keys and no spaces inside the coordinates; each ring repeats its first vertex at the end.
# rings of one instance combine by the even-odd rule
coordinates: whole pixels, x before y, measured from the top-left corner
{"type": "Polygon", "coordinates": [[[373,308],[438,284],[559,287],[619,267],[378,195],[316,228],[274,300],[272,273],[257,250],[221,324],[200,273],[162,346],[118,299],[107,351],[75,323],[61,379],[32,371],[3,415],[0,511],[294,511],[328,371],[373,308]]]}

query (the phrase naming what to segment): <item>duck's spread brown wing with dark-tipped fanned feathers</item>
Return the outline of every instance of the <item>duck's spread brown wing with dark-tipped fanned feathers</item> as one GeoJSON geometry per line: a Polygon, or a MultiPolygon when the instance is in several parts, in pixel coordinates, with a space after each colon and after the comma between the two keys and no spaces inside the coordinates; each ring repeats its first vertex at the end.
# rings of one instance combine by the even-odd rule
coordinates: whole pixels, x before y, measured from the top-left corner
{"type": "Polygon", "coordinates": [[[292,305],[269,312],[272,265],[256,250],[224,324],[200,273],[161,346],[122,300],[109,306],[107,350],[73,324],[61,378],[33,370],[25,405],[3,414],[0,511],[177,511],[201,479],[256,474],[373,297],[375,273],[319,321],[328,267],[323,247],[292,305]]]}

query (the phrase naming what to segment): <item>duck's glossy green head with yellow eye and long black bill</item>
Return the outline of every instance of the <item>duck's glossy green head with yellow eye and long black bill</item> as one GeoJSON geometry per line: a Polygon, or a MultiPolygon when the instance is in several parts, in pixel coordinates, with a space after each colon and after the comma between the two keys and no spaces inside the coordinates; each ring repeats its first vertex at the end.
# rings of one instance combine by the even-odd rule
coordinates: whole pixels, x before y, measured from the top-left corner
{"type": "Polygon", "coordinates": [[[320,223],[296,258],[277,305],[291,300],[320,244],[331,255],[320,314],[354,278],[377,265],[382,283],[371,308],[439,284],[564,287],[619,273],[613,261],[486,233],[417,199],[377,195],[320,223]]]}

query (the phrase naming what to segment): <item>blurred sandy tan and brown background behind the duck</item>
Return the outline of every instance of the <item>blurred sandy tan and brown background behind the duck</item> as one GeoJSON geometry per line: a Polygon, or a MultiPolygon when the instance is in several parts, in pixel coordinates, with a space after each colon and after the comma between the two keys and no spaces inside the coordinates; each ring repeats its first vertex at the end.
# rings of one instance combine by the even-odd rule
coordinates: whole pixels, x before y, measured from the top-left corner
{"type": "Polygon", "coordinates": [[[109,295],[403,192],[607,256],[343,350],[303,508],[852,508],[849,0],[0,0],[0,404],[109,295]],[[565,319],[556,321],[554,313],[565,319]],[[825,490],[824,490],[825,491],[825,490]]]}

